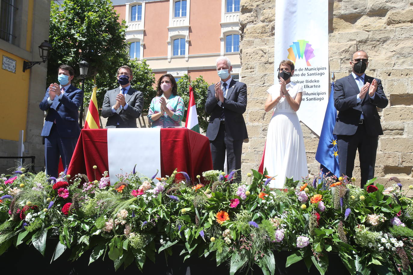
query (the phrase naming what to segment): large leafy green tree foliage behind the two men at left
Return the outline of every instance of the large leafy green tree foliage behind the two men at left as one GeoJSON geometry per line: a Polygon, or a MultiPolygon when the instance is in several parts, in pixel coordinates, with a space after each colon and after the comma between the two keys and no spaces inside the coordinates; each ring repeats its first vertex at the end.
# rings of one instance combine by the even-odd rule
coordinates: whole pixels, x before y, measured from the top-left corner
{"type": "Polygon", "coordinates": [[[145,61],[129,60],[125,21],[118,20],[119,15],[109,0],[64,0],[62,6],[52,1],[49,42],[53,49],[47,65],[47,83],[57,82],[56,69],[63,63],[74,68],[76,84],[80,78],[78,63],[85,60],[89,63],[84,83],[85,106],[95,78],[100,108],[106,91],[119,85],[117,69],[128,65],[134,75],[132,87],[144,93],[144,107],[149,106],[147,102],[154,96],[154,76],[145,61]]]}

